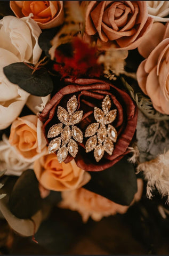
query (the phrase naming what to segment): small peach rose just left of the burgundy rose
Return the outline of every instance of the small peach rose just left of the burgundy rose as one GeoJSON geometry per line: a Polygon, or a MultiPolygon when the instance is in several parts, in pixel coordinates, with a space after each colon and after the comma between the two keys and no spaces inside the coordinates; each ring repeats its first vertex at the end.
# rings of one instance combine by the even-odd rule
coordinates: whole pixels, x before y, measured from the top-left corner
{"type": "Polygon", "coordinates": [[[32,163],[46,153],[41,121],[35,115],[18,117],[12,123],[9,142],[26,162],[32,163]]]}

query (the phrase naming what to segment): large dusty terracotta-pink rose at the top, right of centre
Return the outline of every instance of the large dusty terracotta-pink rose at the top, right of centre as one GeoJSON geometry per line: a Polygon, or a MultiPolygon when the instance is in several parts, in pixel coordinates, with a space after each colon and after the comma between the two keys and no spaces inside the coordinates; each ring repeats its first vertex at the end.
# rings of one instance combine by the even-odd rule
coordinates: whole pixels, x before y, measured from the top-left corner
{"type": "Polygon", "coordinates": [[[90,1],[86,9],[86,33],[98,33],[98,47],[135,49],[152,26],[144,1],[90,1]]]}

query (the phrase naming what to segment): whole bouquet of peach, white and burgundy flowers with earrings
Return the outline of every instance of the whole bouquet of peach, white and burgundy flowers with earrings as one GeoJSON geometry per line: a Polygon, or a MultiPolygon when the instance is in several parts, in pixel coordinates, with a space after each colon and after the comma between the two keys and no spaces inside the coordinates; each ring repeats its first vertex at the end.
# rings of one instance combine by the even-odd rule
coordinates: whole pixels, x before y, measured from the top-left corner
{"type": "Polygon", "coordinates": [[[9,225],[35,234],[46,204],[86,222],[125,213],[144,194],[167,201],[169,3],[10,1],[0,10],[9,225]]]}

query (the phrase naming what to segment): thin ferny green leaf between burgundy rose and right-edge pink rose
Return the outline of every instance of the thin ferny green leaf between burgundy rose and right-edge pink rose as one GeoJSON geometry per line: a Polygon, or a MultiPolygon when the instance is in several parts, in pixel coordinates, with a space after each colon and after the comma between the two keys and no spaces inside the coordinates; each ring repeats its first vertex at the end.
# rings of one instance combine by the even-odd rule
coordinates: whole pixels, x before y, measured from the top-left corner
{"type": "Polygon", "coordinates": [[[135,84],[135,86],[133,86],[133,88],[130,84],[127,83],[127,81],[123,77],[121,77],[121,79],[124,86],[130,93],[132,99],[136,102],[136,105],[145,116],[147,116],[150,119],[156,119],[159,121],[169,120],[169,115],[163,115],[154,109],[150,98],[143,94],[137,83],[135,84]]]}

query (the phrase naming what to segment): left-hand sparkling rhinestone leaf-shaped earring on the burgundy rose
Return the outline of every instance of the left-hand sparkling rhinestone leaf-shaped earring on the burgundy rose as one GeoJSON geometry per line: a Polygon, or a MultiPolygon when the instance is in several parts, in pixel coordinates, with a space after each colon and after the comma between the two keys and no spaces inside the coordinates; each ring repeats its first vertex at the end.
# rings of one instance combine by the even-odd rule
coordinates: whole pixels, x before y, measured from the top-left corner
{"type": "Polygon", "coordinates": [[[76,96],[73,95],[67,102],[67,110],[58,107],[57,116],[61,123],[51,126],[47,138],[55,138],[51,140],[48,152],[54,153],[58,150],[57,157],[59,163],[65,161],[68,152],[75,157],[78,152],[77,142],[83,141],[83,133],[75,124],[79,123],[83,117],[83,111],[76,111],[78,102],[76,96]],[[64,126],[64,127],[63,127],[64,126]]]}

